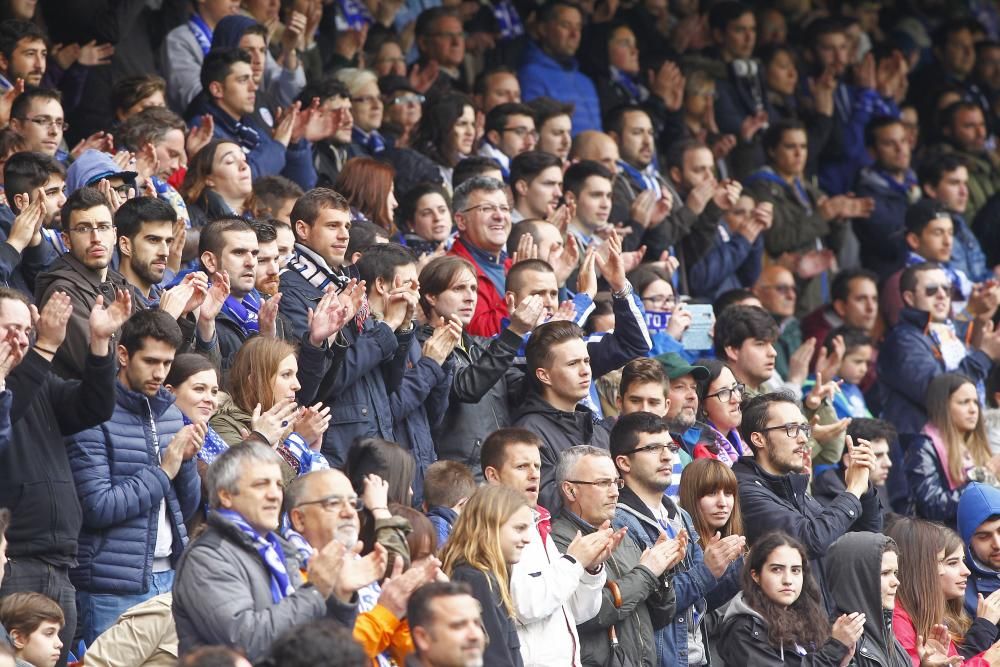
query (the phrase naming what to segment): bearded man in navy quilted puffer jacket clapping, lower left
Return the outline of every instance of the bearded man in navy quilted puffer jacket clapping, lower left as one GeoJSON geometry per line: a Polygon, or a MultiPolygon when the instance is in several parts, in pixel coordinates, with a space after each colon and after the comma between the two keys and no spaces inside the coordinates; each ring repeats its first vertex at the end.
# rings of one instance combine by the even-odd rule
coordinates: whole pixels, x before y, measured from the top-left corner
{"type": "Polygon", "coordinates": [[[69,439],[73,480],[87,499],[70,577],[87,644],[125,610],[170,591],[187,543],[184,522],[200,506],[195,455],[206,427],[185,426],[163,386],[182,340],[166,313],[129,318],[117,350],[114,414],[69,439]]]}

